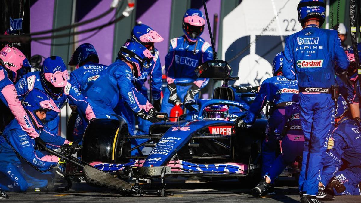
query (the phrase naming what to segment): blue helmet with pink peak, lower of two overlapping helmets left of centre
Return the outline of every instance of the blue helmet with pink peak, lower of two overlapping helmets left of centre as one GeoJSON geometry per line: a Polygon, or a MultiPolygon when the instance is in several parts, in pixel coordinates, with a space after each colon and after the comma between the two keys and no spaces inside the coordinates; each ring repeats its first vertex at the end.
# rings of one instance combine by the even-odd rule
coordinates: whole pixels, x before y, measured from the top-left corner
{"type": "Polygon", "coordinates": [[[138,78],[142,75],[141,68],[145,60],[154,58],[154,56],[142,44],[128,39],[120,48],[118,58],[130,62],[133,65],[133,74],[138,78]]]}

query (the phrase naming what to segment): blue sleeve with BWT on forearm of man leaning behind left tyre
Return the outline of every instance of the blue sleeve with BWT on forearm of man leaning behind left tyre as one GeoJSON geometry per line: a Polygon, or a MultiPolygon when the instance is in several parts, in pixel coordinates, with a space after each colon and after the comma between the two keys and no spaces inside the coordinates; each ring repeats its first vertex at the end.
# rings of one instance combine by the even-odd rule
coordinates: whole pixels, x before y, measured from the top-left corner
{"type": "MultiPolygon", "coordinates": [[[[144,101],[147,99],[143,94],[136,94],[138,91],[132,83],[133,74],[131,69],[127,66],[119,66],[113,69],[114,77],[117,80],[119,93],[122,99],[129,105],[134,113],[144,109],[143,105],[140,105],[138,101],[144,101]]],[[[145,111],[147,111],[145,109],[145,111]]]]}

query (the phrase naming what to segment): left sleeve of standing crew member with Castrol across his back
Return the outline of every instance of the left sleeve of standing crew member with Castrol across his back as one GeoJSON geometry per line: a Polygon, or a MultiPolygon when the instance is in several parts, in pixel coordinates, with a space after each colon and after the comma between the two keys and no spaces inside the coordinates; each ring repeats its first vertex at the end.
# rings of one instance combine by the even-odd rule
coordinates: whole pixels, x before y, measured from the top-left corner
{"type": "Polygon", "coordinates": [[[293,66],[293,49],[292,42],[290,41],[290,37],[286,38],[286,44],[284,46],[284,60],[282,64],[282,73],[283,76],[289,80],[296,79],[296,72],[293,66]]]}

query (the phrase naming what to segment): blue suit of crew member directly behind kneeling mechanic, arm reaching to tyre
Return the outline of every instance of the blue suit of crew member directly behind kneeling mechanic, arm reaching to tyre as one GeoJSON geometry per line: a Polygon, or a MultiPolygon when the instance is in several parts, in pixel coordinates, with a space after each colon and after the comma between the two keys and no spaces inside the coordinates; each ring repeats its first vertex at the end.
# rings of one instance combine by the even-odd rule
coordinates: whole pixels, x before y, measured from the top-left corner
{"type": "MultiPolygon", "coordinates": [[[[22,76],[18,82],[15,84],[16,91],[18,92],[19,96],[24,96],[27,92],[31,91],[34,87],[46,92],[42,86],[40,81],[40,72],[30,72],[22,76]]],[[[87,102],[87,99],[84,98],[82,92],[72,83],[68,82],[68,85],[64,88],[64,94],[62,94],[58,99],[53,99],[57,107],[60,109],[62,105],[67,100],[72,101],[73,104],[77,105],[79,110],[83,112],[88,120],[95,118],[93,108],[87,102]]],[[[50,130],[51,134],[57,135],[58,134],[58,127],[59,127],[59,116],[58,113],[55,111],[50,111],[47,113],[46,117],[46,124],[48,130],[50,130]]]]}

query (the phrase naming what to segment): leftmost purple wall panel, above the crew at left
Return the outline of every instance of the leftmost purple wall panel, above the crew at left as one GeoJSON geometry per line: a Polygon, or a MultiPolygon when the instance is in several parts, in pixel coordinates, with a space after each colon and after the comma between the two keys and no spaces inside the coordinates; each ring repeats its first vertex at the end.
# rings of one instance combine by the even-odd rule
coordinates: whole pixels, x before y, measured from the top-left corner
{"type": "MultiPolygon", "coordinates": [[[[30,7],[30,31],[31,33],[49,30],[53,28],[54,0],[38,0],[30,7]]],[[[37,35],[42,36],[42,35],[37,35]]],[[[42,40],[51,43],[50,39],[42,40]]],[[[31,42],[31,55],[39,54],[44,57],[50,56],[50,46],[38,42],[31,42]]]]}

